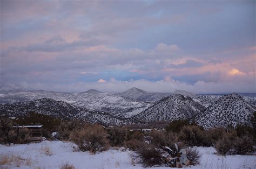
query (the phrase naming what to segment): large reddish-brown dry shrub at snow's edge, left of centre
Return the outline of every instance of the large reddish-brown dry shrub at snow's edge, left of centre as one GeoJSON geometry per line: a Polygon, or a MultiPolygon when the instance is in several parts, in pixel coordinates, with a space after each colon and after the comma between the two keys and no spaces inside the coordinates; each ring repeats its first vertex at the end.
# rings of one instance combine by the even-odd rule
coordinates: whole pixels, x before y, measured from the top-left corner
{"type": "Polygon", "coordinates": [[[78,145],[79,150],[90,151],[93,154],[109,148],[106,137],[106,130],[98,124],[86,124],[82,129],[75,129],[70,134],[70,139],[78,145]]]}

